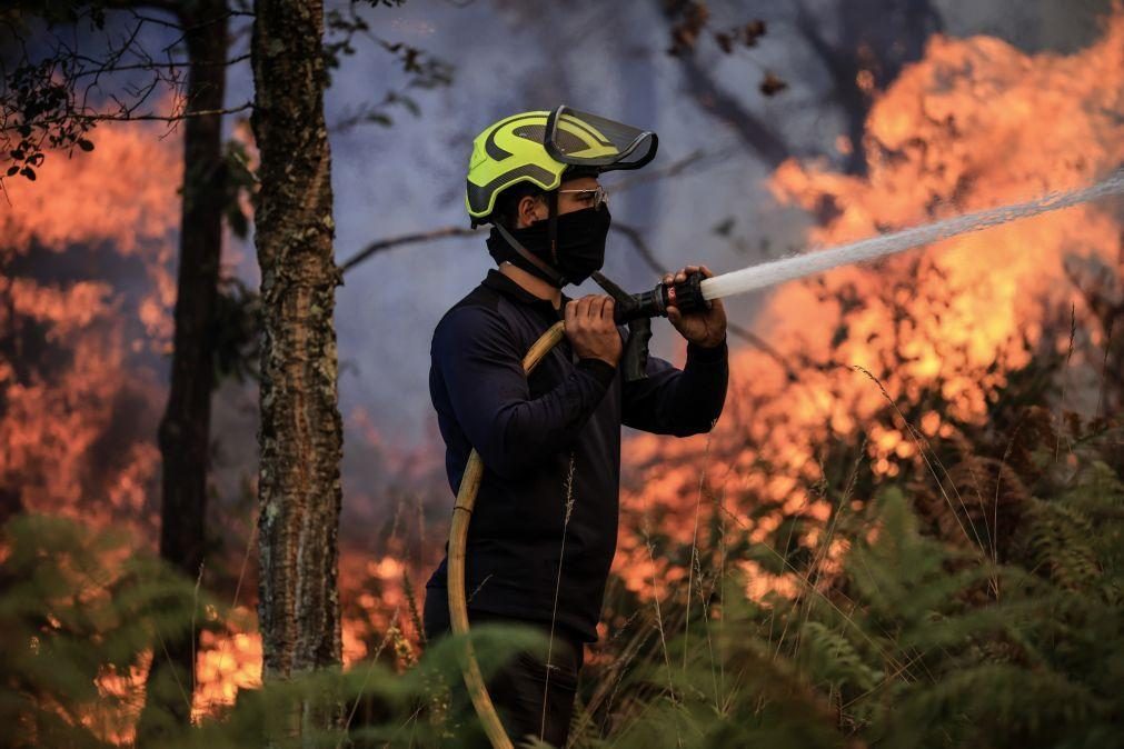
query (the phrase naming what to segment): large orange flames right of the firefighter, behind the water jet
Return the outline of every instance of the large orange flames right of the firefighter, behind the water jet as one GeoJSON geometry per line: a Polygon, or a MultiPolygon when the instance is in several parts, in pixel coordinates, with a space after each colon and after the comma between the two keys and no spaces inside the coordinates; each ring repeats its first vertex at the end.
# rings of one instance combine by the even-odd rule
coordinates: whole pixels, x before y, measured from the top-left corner
{"type": "MultiPolygon", "coordinates": [[[[824,216],[809,239],[836,245],[1095,182],[1124,162],[1121,111],[1120,7],[1104,37],[1073,55],[1027,55],[990,37],[936,35],[924,58],[878,95],[861,144],[865,176],[790,159],[770,188],[781,202],[824,216]]],[[[827,517],[827,503],[807,491],[822,477],[817,445],[863,430],[876,476],[897,475],[919,456],[901,429],[871,419],[886,399],[917,403],[939,383],[946,413],[978,421],[986,393],[1026,363],[1023,337],[1041,342],[1044,310],[1070,302],[1082,308],[1079,290],[1066,280],[1067,257],[1112,267],[1121,237],[1118,212],[1087,204],[778,289],[756,327],[796,368],[797,382],[760,351],[738,350],[713,435],[674,441],[643,435],[627,442],[634,476],[622,496],[615,572],[643,595],[664,593],[682,575],[652,555],[636,529],[656,523],[690,544],[704,465],[707,486],[725,497],[752,540],[763,540],[782,514],[827,517]],[[900,366],[888,366],[899,359],[900,366]],[[876,375],[886,393],[853,367],[876,375]],[[781,512],[754,517],[754,500],[781,512]]],[[[1091,337],[1104,342],[1099,331],[1091,337]]],[[[916,427],[926,437],[949,433],[935,410],[916,427]]],[[[755,597],[792,590],[791,579],[747,572],[755,597]]]]}

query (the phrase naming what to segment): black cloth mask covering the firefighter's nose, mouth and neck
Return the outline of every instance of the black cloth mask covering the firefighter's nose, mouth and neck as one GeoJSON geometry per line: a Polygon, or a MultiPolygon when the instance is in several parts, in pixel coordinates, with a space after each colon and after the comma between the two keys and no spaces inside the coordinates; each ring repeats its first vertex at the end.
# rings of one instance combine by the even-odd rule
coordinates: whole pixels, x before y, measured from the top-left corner
{"type": "MultiPolygon", "coordinates": [[[[535,221],[524,229],[513,229],[511,236],[537,257],[554,266],[559,273],[565,276],[568,283],[579,284],[588,278],[593,271],[599,271],[605,265],[605,239],[609,234],[611,221],[613,217],[609,214],[608,205],[583,208],[559,216],[556,263],[551,257],[550,219],[535,221]]],[[[491,239],[488,244],[492,245],[491,239]]],[[[518,262],[523,258],[515,250],[510,252],[514,257],[504,259],[508,259],[535,275],[542,275],[529,263],[524,265],[518,262]]],[[[492,254],[495,255],[495,252],[492,254]]]]}

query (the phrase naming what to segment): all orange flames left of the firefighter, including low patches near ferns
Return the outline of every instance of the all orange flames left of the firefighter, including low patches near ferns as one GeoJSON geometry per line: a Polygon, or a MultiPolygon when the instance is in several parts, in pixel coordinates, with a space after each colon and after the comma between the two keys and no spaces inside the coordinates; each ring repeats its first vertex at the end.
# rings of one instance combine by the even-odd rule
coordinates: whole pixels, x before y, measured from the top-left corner
{"type": "MultiPolygon", "coordinates": [[[[7,301],[0,305],[0,520],[46,512],[94,527],[139,526],[148,530],[138,537],[156,537],[155,437],[166,399],[157,355],[169,350],[172,335],[182,179],[179,137],[162,135],[140,124],[103,124],[93,152],[49,155],[35,183],[6,181],[11,210],[0,213],[0,299],[7,301]],[[37,335],[49,349],[34,344],[37,335]]],[[[241,137],[247,137],[244,128],[241,137]]],[[[370,419],[355,421],[371,438],[370,419]]],[[[406,613],[405,566],[395,556],[372,560],[369,551],[343,551],[345,665],[370,655],[396,609],[400,629],[417,639],[406,613]]],[[[405,549],[398,551],[405,558],[405,549]]],[[[243,599],[250,601],[236,603],[250,608],[236,606],[237,621],[225,622],[226,631],[200,636],[194,720],[220,713],[239,689],[261,684],[253,596],[243,599]]],[[[151,659],[145,654],[129,673],[99,677],[102,694],[127,697],[130,705],[125,715],[92,706],[83,721],[99,736],[133,740],[151,659]]]]}

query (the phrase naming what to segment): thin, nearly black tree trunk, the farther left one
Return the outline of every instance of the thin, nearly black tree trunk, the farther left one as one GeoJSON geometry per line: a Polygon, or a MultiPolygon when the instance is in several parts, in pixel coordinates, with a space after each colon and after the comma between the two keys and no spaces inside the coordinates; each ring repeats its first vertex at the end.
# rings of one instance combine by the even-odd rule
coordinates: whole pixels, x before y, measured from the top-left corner
{"type": "MultiPolygon", "coordinates": [[[[188,109],[221,109],[226,85],[226,0],[198,0],[181,12],[189,55],[188,109]]],[[[207,513],[212,325],[223,249],[225,167],[220,116],[183,127],[183,199],[171,387],[160,423],[163,459],[160,555],[194,579],[201,574],[207,513]]],[[[191,716],[198,631],[160,632],[140,745],[156,746],[191,716]]]]}

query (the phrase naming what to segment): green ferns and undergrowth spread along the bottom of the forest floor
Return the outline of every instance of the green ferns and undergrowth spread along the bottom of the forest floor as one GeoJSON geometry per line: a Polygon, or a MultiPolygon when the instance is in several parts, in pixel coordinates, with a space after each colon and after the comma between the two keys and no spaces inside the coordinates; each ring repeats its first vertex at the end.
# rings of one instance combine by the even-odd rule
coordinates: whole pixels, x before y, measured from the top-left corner
{"type": "MultiPolygon", "coordinates": [[[[939,392],[888,399],[879,418],[908,430],[924,459],[887,478],[870,471],[867,435],[826,446],[812,488],[834,509],[818,533],[792,517],[751,542],[707,493],[715,511],[696,542],[656,551],[690,567],[689,585],[659,606],[610,585],[622,621],[582,673],[571,746],[1124,746],[1124,424],[1099,414],[1099,399],[1091,420],[1057,404],[1064,364],[1040,356],[1009,372],[987,419],[946,419],[939,439],[914,427],[939,392]],[[792,590],[747,595],[745,561],[792,590]]],[[[143,689],[120,684],[143,678],[170,634],[232,622],[132,548],[60,518],[4,527],[3,746],[127,743],[143,689]]],[[[519,629],[471,637],[486,673],[515,649],[546,647],[519,629]]],[[[244,689],[164,746],[479,740],[471,706],[450,698],[461,643],[417,656],[392,627],[383,645],[344,673],[244,689]],[[288,736],[273,716],[297,700],[332,703],[342,728],[288,736]]]]}

